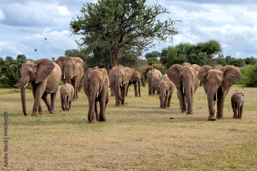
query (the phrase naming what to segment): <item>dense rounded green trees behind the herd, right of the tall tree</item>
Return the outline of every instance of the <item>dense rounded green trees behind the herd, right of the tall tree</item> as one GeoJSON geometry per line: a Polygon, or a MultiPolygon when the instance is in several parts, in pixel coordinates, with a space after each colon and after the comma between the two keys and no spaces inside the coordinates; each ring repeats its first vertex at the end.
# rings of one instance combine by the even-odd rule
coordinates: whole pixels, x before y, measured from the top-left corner
{"type": "Polygon", "coordinates": [[[174,64],[188,62],[199,66],[215,65],[213,57],[222,52],[220,42],[210,40],[208,42],[180,43],[176,46],[168,46],[162,49],[160,62],[169,69],[174,64]]]}

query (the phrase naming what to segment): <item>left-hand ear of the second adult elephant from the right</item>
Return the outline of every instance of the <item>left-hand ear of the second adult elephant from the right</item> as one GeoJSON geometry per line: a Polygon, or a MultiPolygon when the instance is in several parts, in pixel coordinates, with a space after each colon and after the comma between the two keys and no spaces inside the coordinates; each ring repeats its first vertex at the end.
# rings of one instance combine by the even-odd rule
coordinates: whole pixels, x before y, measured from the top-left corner
{"type": "Polygon", "coordinates": [[[174,64],[167,71],[169,79],[175,84],[176,87],[180,87],[179,70],[181,67],[182,65],[174,64]]]}

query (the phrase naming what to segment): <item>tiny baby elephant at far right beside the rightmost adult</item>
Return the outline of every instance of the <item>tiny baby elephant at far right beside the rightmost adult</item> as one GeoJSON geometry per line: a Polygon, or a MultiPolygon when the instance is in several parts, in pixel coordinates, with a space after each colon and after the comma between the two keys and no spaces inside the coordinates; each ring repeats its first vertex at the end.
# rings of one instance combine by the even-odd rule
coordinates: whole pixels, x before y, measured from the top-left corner
{"type": "Polygon", "coordinates": [[[231,96],[231,105],[234,112],[233,118],[241,119],[244,108],[244,95],[236,92],[231,96]]]}

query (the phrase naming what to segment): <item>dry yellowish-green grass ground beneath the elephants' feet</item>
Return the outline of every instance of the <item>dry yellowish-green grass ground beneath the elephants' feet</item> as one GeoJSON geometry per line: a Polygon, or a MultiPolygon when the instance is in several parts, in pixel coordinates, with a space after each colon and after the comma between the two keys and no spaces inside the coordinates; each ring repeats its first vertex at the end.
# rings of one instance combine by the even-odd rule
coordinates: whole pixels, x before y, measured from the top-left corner
{"type": "Polygon", "coordinates": [[[148,87],[141,88],[141,97],[134,97],[133,85],[130,88],[127,105],[115,107],[115,97],[110,97],[106,122],[97,124],[87,124],[84,93],[69,112],[61,109],[58,93],[54,115],[41,100],[44,114],[38,117],[30,116],[32,93],[26,94],[28,116],[23,115],[20,94],[0,95],[1,116],[7,111],[10,119],[8,169],[257,170],[257,88],[233,86],[224,119],[216,121],[207,120],[203,87],[195,94],[194,115],[180,113],[176,92],[171,108],[160,109],[159,98],[148,96],[148,87]],[[240,120],[232,119],[230,97],[235,90],[245,97],[240,120]]]}

